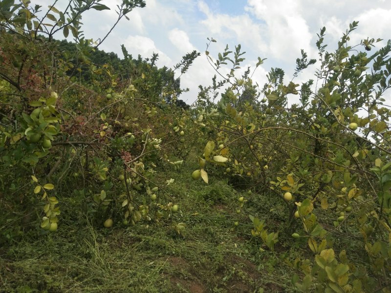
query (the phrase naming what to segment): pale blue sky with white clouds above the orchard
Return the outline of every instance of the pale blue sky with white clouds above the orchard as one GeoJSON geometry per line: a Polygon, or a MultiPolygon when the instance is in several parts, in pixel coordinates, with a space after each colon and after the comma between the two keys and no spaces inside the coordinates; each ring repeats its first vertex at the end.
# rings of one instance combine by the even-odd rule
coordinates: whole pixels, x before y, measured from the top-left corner
{"type": "MultiPolygon", "coordinates": [[[[32,0],[43,7],[51,0],[32,0]]],[[[67,1],[59,0],[60,7],[67,1]]],[[[97,40],[106,35],[116,21],[115,6],[121,0],[102,0],[112,10],[91,11],[83,18],[86,38],[97,40]]],[[[123,58],[121,44],[128,52],[143,58],[159,54],[157,65],[172,68],[187,52],[201,53],[189,71],[181,77],[181,87],[190,91],[181,99],[192,104],[198,85],[207,86],[215,75],[207,62],[207,38],[217,42],[209,49],[217,56],[228,44],[240,44],[245,51],[243,68],[255,67],[258,57],[267,60],[257,68],[253,80],[261,86],[271,67],[280,67],[291,79],[296,58],[304,49],[309,58],[318,59],[316,34],[326,26],[325,42],[329,51],[335,48],[342,33],[352,21],[359,21],[351,34],[351,44],[362,39],[381,38],[384,45],[391,39],[391,0],[146,0],[147,6],[136,8],[123,19],[102,43],[100,49],[115,52],[123,58]]],[[[59,8],[60,8],[59,7],[59,8]]],[[[61,38],[61,35],[57,36],[61,38]]],[[[318,62],[319,63],[319,62],[318,62]]],[[[306,70],[296,83],[313,78],[316,64],[306,70]]]]}

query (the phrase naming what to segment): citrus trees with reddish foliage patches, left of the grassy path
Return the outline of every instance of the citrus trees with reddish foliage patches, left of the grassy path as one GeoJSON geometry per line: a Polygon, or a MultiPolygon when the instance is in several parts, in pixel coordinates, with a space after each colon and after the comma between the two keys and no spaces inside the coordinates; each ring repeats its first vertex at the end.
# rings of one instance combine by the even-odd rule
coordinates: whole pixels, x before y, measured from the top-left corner
{"type": "MultiPolygon", "coordinates": [[[[67,1],[63,10],[59,4],[0,3],[0,164],[7,170],[0,175],[1,242],[34,226],[56,231],[61,211],[67,221],[88,215],[106,228],[168,219],[183,233],[184,224],[171,219],[178,206],[164,191],[173,180],[158,182],[155,169],[169,164],[161,149],[182,138],[183,130],[166,136],[183,113],[175,105],[183,90],[174,70],[185,73],[199,53],[174,70],[159,69],[156,54],[134,60],[122,46],[116,72],[93,62],[108,35],[95,42],[82,32],[86,11],[109,7],[101,0],[67,1]],[[64,49],[56,33],[72,35],[73,48],[64,49]]],[[[108,34],[144,6],[123,0],[108,34]]]]}

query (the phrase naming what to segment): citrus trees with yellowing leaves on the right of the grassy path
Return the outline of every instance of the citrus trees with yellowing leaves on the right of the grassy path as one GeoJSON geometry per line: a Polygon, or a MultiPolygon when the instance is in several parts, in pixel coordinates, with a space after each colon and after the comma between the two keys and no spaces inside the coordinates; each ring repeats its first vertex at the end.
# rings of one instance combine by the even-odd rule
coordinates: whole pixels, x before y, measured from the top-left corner
{"type": "MultiPolygon", "coordinates": [[[[208,48],[216,41],[208,39],[206,56],[220,81],[215,77],[202,88],[196,103],[205,147],[194,176],[208,183],[208,168],[218,165],[232,182],[247,186],[249,198],[252,190],[285,206],[286,228],[267,229],[265,220],[250,215],[251,233],[273,251],[286,239],[282,233],[293,232],[309,249],[312,257],[290,263],[303,275],[292,279],[302,292],[372,292],[390,285],[391,112],[385,94],[391,41],[377,50],[380,39],[353,46],[349,34],[357,25],[350,24],[333,52],[326,51],[321,29],[315,78],[302,84],[295,78],[317,62],[303,50],[291,81],[272,68],[259,86],[250,69],[238,74],[240,45],[213,59],[208,48]],[[223,75],[225,65],[229,73],[223,75]],[[292,97],[299,103],[289,105],[292,97]],[[337,245],[341,239],[360,241],[358,251],[337,245]]],[[[239,199],[238,212],[246,200],[239,199]]]]}

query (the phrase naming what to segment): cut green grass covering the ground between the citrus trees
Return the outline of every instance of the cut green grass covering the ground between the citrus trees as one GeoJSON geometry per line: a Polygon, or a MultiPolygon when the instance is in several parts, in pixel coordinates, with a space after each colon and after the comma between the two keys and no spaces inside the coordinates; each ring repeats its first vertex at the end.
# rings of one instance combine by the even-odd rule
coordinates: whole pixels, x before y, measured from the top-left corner
{"type": "Polygon", "coordinates": [[[194,181],[188,161],[179,171],[164,170],[175,179],[167,191],[180,206],[173,221],[186,223],[184,236],[145,222],[104,229],[87,217],[63,221],[56,233],[32,230],[0,249],[1,292],[296,292],[289,264],[299,246],[281,235],[275,252],[259,251],[250,233],[248,214],[267,214],[270,231],[283,227],[282,206],[218,177],[209,185],[194,181]],[[248,202],[237,214],[240,196],[248,202]]]}

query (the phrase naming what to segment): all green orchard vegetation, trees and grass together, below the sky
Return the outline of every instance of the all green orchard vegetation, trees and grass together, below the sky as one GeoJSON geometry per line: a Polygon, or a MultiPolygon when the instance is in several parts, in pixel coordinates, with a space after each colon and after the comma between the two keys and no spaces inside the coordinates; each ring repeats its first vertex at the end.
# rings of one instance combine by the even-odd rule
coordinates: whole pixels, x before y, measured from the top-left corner
{"type": "Polygon", "coordinates": [[[322,28],[316,82],[293,82],[302,50],[259,86],[208,39],[219,79],[190,107],[174,72],[199,53],[99,51],[81,18],[100,2],[0,2],[1,290],[390,292],[391,41],[352,46],[353,22],[327,52],[322,28]]]}

